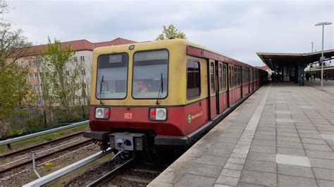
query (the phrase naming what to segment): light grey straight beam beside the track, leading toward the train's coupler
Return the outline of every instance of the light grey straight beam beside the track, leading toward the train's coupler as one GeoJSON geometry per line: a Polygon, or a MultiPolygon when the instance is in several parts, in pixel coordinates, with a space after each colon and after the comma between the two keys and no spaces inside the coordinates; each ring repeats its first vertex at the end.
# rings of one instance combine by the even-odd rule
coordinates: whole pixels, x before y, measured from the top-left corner
{"type": "Polygon", "coordinates": [[[90,162],[93,162],[94,160],[99,159],[100,157],[104,157],[105,155],[111,153],[111,148],[108,148],[106,151],[100,151],[99,153],[95,153],[94,155],[91,155],[89,157],[86,157],[82,160],[79,160],[78,162],[73,163],[72,165],[68,165],[67,167],[63,167],[61,169],[58,169],[56,172],[52,172],[51,174],[47,174],[46,176],[42,176],[41,178],[32,181],[30,183],[27,183],[23,185],[23,187],[30,187],[30,186],[42,186],[45,183],[48,183],[50,181],[53,181],[54,179],[57,179],[60,176],[63,176],[65,174],[68,174],[69,172],[72,172],[75,169],[78,169],[84,165],[89,164],[90,162]]]}

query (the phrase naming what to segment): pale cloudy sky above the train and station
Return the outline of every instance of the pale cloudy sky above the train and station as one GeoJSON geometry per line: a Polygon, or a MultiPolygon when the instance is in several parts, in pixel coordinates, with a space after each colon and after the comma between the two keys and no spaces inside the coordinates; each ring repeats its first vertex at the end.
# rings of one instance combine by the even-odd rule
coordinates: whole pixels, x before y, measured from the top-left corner
{"type": "MultiPolygon", "coordinates": [[[[333,22],[334,1],[60,1],[7,0],[2,16],[22,29],[32,44],[110,41],[117,37],[154,40],[173,24],[187,39],[251,65],[256,52],[321,51],[321,27],[333,22]]],[[[334,49],[333,25],[325,27],[324,49],[334,49]]]]}

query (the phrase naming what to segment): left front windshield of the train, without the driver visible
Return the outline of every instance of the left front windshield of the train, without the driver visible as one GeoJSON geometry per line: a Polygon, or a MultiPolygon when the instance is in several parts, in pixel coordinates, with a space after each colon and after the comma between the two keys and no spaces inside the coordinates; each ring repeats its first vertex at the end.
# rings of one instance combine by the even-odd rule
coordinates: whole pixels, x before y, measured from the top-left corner
{"type": "Polygon", "coordinates": [[[126,97],[128,61],[127,53],[101,55],[97,58],[97,98],[122,99],[126,97]]]}

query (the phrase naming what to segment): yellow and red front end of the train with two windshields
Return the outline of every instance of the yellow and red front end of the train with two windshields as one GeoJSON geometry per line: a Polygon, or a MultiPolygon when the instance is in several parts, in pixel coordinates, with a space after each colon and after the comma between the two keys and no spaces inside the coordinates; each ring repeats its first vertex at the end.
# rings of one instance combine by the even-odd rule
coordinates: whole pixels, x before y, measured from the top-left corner
{"type": "Polygon", "coordinates": [[[95,49],[89,127],[101,150],[155,151],[185,146],[185,41],[95,49]],[[181,94],[182,93],[182,94],[181,94]],[[179,106],[179,107],[178,107],[179,106]]]}

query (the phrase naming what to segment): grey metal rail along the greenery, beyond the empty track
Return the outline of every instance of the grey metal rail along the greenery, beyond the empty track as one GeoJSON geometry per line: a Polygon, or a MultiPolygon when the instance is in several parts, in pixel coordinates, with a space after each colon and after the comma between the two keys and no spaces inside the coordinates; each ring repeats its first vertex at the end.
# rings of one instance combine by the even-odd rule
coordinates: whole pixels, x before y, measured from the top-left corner
{"type": "Polygon", "coordinates": [[[44,134],[50,134],[50,133],[53,133],[53,132],[56,132],[56,131],[61,131],[61,130],[64,130],[64,129],[70,129],[72,127],[78,127],[82,124],[87,124],[88,122],[89,122],[89,120],[86,120],[86,121],[83,121],[83,122],[69,124],[69,125],[66,125],[64,127],[49,129],[47,131],[40,131],[40,132],[37,132],[37,133],[34,133],[34,134],[27,134],[25,136],[19,136],[19,137],[16,137],[16,138],[9,138],[7,140],[0,141],[0,146],[7,145],[7,147],[10,148],[11,143],[14,143],[14,142],[17,142],[17,141],[23,141],[23,140],[29,139],[29,138],[34,138],[34,137],[41,136],[41,135],[44,135],[44,134]]]}

